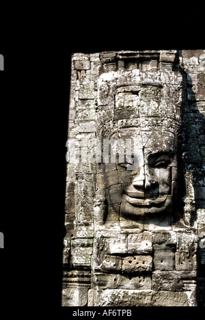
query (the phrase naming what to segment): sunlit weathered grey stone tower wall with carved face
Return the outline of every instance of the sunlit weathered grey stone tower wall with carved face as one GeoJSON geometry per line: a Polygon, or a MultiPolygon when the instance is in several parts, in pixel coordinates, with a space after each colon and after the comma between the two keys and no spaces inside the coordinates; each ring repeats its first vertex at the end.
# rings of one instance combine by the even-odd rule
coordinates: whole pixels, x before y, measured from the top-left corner
{"type": "Polygon", "coordinates": [[[205,50],[74,53],[62,306],[204,306],[205,50]]]}

